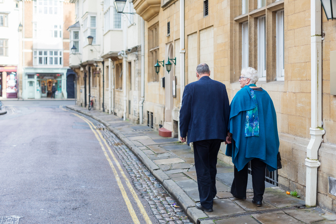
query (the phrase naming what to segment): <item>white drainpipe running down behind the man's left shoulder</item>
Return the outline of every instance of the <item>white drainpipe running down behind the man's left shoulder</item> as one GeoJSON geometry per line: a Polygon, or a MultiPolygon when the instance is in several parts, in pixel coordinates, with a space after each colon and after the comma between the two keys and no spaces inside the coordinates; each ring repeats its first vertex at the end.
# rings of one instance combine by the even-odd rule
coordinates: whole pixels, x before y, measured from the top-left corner
{"type": "MultiPolygon", "coordinates": [[[[184,91],[184,66],[185,66],[185,49],[184,49],[184,0],[180,0],[180,60],[181,60],[181,66],[180,66],[180,108],[182,106],[182,96],[184,91]]],[[[178,111],[178,134],[180,134],[180,111],[178,111]]],[[[178,140],[180,141],[180,138],[178,136],[178,140]]]]}

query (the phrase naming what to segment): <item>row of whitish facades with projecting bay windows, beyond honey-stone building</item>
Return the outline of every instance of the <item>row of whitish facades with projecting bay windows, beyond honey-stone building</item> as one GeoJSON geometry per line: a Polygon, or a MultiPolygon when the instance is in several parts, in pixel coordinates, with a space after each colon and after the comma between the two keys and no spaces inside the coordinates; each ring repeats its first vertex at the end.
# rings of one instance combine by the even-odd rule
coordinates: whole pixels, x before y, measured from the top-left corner
{"type": "MultiPolygon", "coordinates": [[[[70,67],[76,73],[76,103],[139,123],[141,17],[121,14],[112,0],[78,1],[70,33],[70,67]],[[129,35],[127,35],[129,34],[129,35]],[[89,44],[87,37],[93,37],[89,44]]],[[[124,12],[134,11],[127,2],[124,12]]]]}

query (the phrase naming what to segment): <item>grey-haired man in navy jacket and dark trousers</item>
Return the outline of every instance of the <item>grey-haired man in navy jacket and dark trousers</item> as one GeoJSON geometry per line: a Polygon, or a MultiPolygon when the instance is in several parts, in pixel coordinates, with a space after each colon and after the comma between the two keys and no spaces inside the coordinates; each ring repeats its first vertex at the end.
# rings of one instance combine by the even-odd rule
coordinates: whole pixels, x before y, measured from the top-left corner
{"type": "Polygon", "coordinates": [[[185,86],[180,109],[181,141],[194,142],[194,158],[200,203],[196,208],[212,212],[216,196],[216,164],[225,141],[230,105],[225,85],[210,79],[209,66],[196,68],[198,81],[185,86]]]}

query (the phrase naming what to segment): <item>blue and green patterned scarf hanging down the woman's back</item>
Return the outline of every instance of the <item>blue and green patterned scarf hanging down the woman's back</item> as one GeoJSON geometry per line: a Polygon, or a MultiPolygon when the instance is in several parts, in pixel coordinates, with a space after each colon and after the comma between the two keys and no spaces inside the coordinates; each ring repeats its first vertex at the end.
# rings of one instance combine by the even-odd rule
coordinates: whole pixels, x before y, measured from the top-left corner
{"type": "MultiPolygon", "coordinates": [[[[248,86],[256,85],[250,84],[248,86]]],[[[250,91],[252,100],[255,103],[255,107],[251,110],[246,111],[245,137],[259,136],[258,104],[253,89],[250,88],[250,91]]]]}

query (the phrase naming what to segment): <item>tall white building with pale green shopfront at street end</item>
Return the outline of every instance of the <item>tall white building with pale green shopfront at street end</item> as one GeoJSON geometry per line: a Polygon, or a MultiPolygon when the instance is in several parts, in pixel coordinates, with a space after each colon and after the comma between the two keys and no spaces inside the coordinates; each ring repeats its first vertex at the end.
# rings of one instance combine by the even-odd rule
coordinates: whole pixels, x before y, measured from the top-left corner
{"type": "MultiPolygon", "coordinates": [[[[69,34],[74,5],[64,0],[23,1],[22,98],[68,98],[69,34]]],[[[70,85],[71,87],[71,85],[70,85]]],[[[74,88],[71,88],[74,91],[74,88]]],[[[73,94],[74,95],[74,94],[73,94]]]]}

